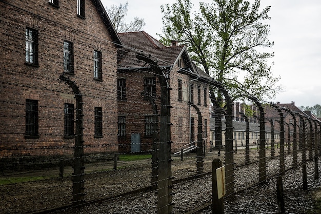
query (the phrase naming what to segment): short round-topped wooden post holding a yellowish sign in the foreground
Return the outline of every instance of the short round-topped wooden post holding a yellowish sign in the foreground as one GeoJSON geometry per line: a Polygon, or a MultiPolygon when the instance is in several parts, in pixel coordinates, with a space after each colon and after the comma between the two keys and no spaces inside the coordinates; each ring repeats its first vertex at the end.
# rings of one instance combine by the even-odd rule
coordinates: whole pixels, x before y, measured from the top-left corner
{"type": "Polygon", "coordinates": [[[212,213],[223,214],[224,213],[224,201],[223,198],[218,199],[216,169],[222,166],[222,162],[219,159],[212,161],[212,213]]]}

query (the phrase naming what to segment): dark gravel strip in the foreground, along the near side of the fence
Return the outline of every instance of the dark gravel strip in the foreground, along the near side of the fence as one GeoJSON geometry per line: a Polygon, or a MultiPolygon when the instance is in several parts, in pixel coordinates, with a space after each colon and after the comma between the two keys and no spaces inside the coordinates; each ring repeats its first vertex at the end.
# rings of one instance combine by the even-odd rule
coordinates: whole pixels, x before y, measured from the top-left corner
{"type": "MultiPolygon", "coordinates": [[[[291,157],[286,158],[286,163],[290,164],[291,157]]],[[[278,171],[278,159],[270,160],[267,163],[268,171],[278,171]]],[[[235,177],[242,178],[235,182],[237,189],[248,186],[255,182],[257,177],[249,171],[258,171],[257,164],[247,167],[239,167],[235,170],[235,177]]],[[[319,180],[313,179],[314,164],[307,163],[308,190],[302,190],[302,168],[289,170],[283,176],[284,196],[286,213],[304,213],[307,209],[312,209],[311,192],[321,185],[319,180]]],[[[237,190],[236,189],[236,190],[237,190]]],[[[176,184],[173,188],[172,213],[185,213],[196,207],[211,202],[212,184],[211,176],[176,184]]],[[[155,191],[139,193],[138,195],[120,197],[107,200],[100,204],[92,204],[82,208],[64,210],[64,213],[156,213],[157,196],[155,191]]],[[[270,179],[265,185],[255,186],[235,194],[234,197],[225,199],[225,213],[277,213],[276,201],[276,178],[270,179]]],[[[211,208],[197,213],[212,213],[211,208]]]]}

